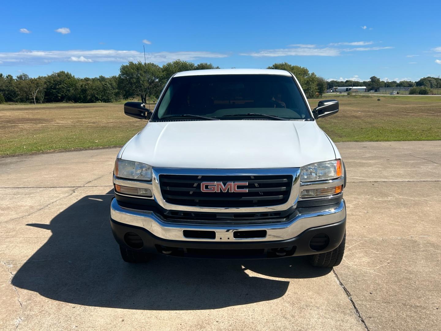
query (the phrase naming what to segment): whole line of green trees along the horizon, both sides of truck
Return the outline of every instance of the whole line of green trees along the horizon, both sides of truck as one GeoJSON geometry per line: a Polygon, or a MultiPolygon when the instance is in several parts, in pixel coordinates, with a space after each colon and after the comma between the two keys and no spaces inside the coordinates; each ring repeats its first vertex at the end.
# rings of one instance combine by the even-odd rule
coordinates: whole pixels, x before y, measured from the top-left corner
{"type": "MultiPolygon", "coordinates": [[[[31,78],[26,74],[3,75],[0,73],[0,103],[4,102],[115,102],[131,98],[155,99],[168,79],[179,71],[219,69],[211,63],[194,64],[176,60],[159,66],[154,63],[129,62],[120,67],[120,74],[110,77],[77,78],[70,72],[58,71],[50,75],[31,78]]],[[[366,86],[368,90],[385,87],[386,82],[376,76],[369,81],[327,81],[305,67],[275,63],[268,69],[291,71],[299,80],[308,98],[320,96],[333,87],[366,86]]],[[[439,79],[425,77],[417,82],[390,81],[387,87],[413,87],[414,94],[429,94],[430,89],[441,87],[439,79]]]]}

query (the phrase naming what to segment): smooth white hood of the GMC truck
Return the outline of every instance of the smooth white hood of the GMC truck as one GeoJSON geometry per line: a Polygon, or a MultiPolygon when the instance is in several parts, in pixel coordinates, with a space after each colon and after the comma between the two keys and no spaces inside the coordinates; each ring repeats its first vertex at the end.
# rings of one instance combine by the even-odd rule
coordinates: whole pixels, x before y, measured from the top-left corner
{"type": "Polygon", "coordinates": [[[335,159],[316,122],[278,120],[151,122],[119,155],[153,167],[203,169],[293,168],[335,159]]]}

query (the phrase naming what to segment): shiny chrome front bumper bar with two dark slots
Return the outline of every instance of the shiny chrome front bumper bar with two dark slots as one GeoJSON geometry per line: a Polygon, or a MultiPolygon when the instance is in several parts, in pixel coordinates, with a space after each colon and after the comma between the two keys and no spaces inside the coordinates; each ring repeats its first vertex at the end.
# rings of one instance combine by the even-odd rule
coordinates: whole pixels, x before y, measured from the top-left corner
{"type": "Polygon", "coordinates": [[[112,200],[110,207],[110,217],[112,220],[130,226],[138,226],[148,230],[156,237],[166,240],[178,241],[221,241],[221,242],[235,242],[235,241],[280,241],[291,239],[298,236],[306,229],[334,224],[346,218],[346,205],[344,200],[340,204],[304,208],[300,211],[295,211],[292,219],[283,224],[268,224],[255,226],[238,226],[238,225],[182,225],[164,222],[160,217],[151,211],[139,211],[134,209],[123,208],[118,204],[116,199],[112,200]],[[201,238],[187,238],[184,237],[184,230],[202,230],[215,231],[216,237],[214,239],[201,238]],[[236,239],[233,236],[235,231],[244,230],[266,230],[266,237],[264,238],[246,238],[236,239]]]}

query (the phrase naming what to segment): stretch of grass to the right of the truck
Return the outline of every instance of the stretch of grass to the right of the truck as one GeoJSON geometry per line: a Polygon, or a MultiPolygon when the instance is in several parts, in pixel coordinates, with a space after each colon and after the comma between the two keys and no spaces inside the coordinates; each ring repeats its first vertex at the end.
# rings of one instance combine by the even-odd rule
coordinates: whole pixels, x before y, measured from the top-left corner
{"type": "MultiPolygon", "coordinates": [[[[334,142],[441,139],[441,97],[327,95],[340,102],[336,115],[318,120],[334,142]],[[377,101],[377,99],[381,99],[377,101]]],[[[310,99],[311,107],[318,99],[310,99]]]]}

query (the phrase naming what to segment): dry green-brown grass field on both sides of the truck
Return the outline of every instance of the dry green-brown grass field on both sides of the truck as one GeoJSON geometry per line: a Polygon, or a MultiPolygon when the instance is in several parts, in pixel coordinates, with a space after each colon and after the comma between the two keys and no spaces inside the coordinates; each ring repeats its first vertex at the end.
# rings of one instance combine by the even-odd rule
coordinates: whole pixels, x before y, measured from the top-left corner
{"type": "MultiPolygon", "coordinates": [[[[326,98],[340,101],[339,113],[318,120],[334,142],[441,139],[441,97],[326,98]]],[[[121,146],[145,124],[125,116],[121,103],[0,105],[0,155],[121,146]]]]}

